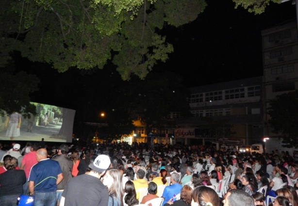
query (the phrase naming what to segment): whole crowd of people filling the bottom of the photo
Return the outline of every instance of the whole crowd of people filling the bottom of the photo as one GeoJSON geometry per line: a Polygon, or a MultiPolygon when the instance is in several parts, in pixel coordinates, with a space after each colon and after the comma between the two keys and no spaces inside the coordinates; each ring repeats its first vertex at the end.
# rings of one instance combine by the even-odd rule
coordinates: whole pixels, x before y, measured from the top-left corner
{"type": "Polygon", "coordinates": [[[297,151],[147,143],[1,148],[1,206],[16,206],[21,194],[33,196],[34,206],[298,206],[297,151]]]}

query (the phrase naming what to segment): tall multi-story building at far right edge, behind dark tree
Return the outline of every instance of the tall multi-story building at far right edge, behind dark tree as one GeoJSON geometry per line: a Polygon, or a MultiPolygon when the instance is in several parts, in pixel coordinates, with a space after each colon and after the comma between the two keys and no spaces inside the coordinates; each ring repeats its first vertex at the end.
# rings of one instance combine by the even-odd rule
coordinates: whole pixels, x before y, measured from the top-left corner
{"type": "Polygon", "coordinates": [[[264,136],[274,137],[268,124],[269,101],[298,89],[298,35],[296,21],[262,31],[264,136]]]}

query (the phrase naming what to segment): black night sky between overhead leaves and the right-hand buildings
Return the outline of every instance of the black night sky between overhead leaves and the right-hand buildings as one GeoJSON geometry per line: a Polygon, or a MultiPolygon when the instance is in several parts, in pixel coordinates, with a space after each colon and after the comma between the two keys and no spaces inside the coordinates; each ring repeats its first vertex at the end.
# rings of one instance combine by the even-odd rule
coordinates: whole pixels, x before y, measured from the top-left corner
{"type": "Polygon", "coordinates": [[[255,15],[232,0],[207,0],[198,18],[178,29],[168,28],[174,53],[158,65],[180,74],[187,87],[263,75],[261,31],[295,20],[291,1],[270,4],[255,15]]]}

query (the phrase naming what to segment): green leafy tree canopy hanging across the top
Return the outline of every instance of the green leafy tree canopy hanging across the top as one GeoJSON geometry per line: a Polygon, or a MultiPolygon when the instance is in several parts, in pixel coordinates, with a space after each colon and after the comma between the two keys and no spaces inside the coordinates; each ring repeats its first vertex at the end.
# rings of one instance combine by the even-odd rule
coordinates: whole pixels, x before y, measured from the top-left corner
{"type": "MultiPolygon", "coordinates": [[[[280,0],[233,0],[259,14],[280,0]]],[[[204,0],[1,0],[0,66],[12,51],[33,62],[71,67],[117,65],[122,79],[144,79],[154,64],[173,52],[161,30],[197,18],[204,0]]]]}

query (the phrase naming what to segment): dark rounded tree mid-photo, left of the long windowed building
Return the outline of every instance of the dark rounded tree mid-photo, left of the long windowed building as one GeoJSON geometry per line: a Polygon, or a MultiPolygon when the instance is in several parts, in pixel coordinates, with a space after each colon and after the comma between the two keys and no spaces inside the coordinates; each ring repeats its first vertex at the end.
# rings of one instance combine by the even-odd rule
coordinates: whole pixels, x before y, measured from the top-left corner
{"type": "Polygon", "coordinates": [[[128,109],[134,120],[141,116],[141,121],[147,127],[175,127],[174,119],[167,119],[171,113],[176,117],[189,116],[189,90],[182,86],[182,79],[170,72],[150,73],[146,79],[132,80],[126,87],[118,90],[116,101],[119,109],[128,109]]]}

